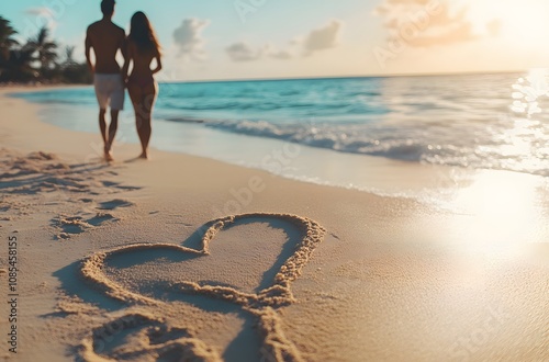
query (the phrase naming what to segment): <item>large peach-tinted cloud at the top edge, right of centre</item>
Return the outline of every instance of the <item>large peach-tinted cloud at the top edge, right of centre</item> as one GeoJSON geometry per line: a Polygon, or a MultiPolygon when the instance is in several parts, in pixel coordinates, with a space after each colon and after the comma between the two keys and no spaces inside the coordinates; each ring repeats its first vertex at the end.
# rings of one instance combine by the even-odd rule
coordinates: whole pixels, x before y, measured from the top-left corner
{"type": "MultiPolygon", "coordinates": [[[[384,18],[389,42],[404,41],[412,47],[432,47],[479,37],[468,20],[469,9],[439,0],[384,0],[376,9],[384,18]]],[[[493,25],[495,31],[495,25],[493,25]]]]}

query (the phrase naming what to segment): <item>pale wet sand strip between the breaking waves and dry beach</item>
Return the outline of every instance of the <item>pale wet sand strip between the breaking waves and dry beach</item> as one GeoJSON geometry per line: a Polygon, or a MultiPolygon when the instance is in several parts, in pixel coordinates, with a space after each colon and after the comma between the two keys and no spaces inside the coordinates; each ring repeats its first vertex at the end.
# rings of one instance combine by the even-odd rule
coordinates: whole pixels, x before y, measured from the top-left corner
{"type": "MultiPolygon", "coordinates": [[[[43,90],[47,91],[48,89],[46,87],[43,90]]],[[[27,92],[29,90],[20,89],[19,91],[27,92]]],[[[90,111],[91,108],[78,111],[76,105],[32,104],[41,112],[47,113],[47,116],[42,117],[42,122],[63,129],[97,136],[97,125],[93,120],[94,114],[90,111]],[[67,117],[67,114],[70,116],[67,117]],[[89,118],[88,124],[85,126],[71,125],[74,121],[70,117],[80,115],[89,118]],[[54,121],[56,116],[65,118],[65,121],[54,121]]],[[[194,124],[175,125],[164,120],[155,120],[155,123],[157,123],[157,127],[154,129],[152,139],[153,149],[268,171],[278,177],[300,182],[358,190],[380,196],[413,199],[442,208],[451,207],[455,190],[464,190],[481,178],[515,179],[516,174],[520,174],[524,179],[537,179],[539,183],[544,183],[546,179],[542,176],[517,171],[425,165],[385,157],[339,152],[281,139],[204,129],[194,124]],[[182,138],[175,143],[165,137],[166,133],[180,134],[182,138]],[[195,138],[210,139],[210,142],[198,149],[184,146],[194,144],[195,138]],[[160,139],[163,144],[159,144],[160,139]],[[253,155],[244,149],[236,151],[243,143],[248,144],[247,149],[254,149],[253,155]],[[323,162],[318,162],[318,159],[322,159],[323,162]]],[[[138,140],[134,129],[132,110],[126,109],[121,115],[115,148],[119,145],[127,144],[135,145],[138,144],[138,140]]],[[[94,143],[89,147],[90,149],[99,152],[102,147],[94,143]]]]}

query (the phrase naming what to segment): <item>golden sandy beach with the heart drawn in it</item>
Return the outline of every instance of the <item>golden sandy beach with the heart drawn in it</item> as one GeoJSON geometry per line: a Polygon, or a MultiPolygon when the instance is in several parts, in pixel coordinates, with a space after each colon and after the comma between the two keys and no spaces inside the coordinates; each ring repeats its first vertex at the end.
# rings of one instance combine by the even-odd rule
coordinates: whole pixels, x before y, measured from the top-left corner
{"type": "Polygon", "coordinates": [[[184,155],[131,161],[136,145],[107,165],[99,134],[3,94],[0,109],[7,361],[549,360],[542,227],[497,242],[483,235],[505,223],[475,233],[485,215],[184,155]]]}

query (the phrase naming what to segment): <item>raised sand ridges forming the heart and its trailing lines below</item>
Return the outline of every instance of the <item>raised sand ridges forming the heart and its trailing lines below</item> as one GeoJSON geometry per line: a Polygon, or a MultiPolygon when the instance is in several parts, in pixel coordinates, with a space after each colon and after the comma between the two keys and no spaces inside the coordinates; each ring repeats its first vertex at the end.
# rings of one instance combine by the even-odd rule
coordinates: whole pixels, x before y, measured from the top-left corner
{"type": "Polygon", "coordinates": [[[173,308],[173,303],[131,291],[116,282],[108,274],[109,262],[139,251],[147,253],[167,251],[170,254],[188,256],[189,259],[202,258],[211,254],[210,244],[222,230],[227,230],[246,220],[281,220],[296,227],[300,233],[301,240],[292,246],[293,253],[280,264],[270,285],[264,284],[254,293],[211,281],[177,280],[170,282],[167,287],[172,293],[227,302],[253,316],[261,338],[259,347],[261,361],[303,361],[298,348],[285,337],[277,309],[295,302],[291,284],[301,275],[314,249],[324,239],[326,229],[310,218],[274,213],[240,214],[211,220],[204,225],[203,229],[199,229],[199,233],[203,230],[199,249],[173,244],[136,244],[97,252],[87,258],[80,268],[83,279],[109,297],[128,304],[131,307],[122,310],[122,315],[117,313],[111,323],[89,333],[80,346],[80,357],[85,361],[223,361],[213,348],[194,337],[192,327],[175,328],[161,315],[158,316],[158,313],[173,308]],[[141,312],[135,312],[134,307],[138,307],[141,312]],[[146,313],[143,313],[143,307],[146,308],[146,313]],[[112,327],[113,324],[116,328],[112,327]],[[125,346],[107,348],[105,342],[115,340],[114,335],[125,336],[131,333],[131,330],[141,337],[134,339],[133,342],[132,340],[122,342],[125,346]],[[102,336],[100,331],[103,331],[102,336]]]}

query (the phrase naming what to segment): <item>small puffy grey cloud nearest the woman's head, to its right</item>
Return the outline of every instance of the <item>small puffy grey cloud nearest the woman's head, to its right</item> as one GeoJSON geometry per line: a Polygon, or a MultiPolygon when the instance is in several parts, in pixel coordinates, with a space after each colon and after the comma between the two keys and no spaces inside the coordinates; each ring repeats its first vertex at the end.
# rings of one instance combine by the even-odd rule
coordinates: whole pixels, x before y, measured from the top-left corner
{"type": "Polygon", "coordinates": [[[179,56],[202,60],[206,57],[202,36],[204,29],[210,25],[209,20],[184,19],[181,25],[173,31],[173,41],[179,48],[179,56]]]}

